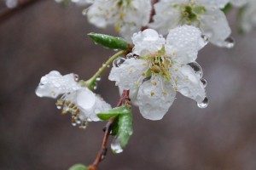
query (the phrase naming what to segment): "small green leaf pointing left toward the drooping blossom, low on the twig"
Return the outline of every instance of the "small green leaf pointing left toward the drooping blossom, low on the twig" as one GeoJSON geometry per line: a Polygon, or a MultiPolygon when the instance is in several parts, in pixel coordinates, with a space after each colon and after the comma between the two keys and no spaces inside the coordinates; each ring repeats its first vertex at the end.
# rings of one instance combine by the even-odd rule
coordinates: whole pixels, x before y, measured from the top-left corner
{"type": "Polygon", "coordinates": [[[108,121],[109,119],[118,116],[120,114],[131,114],[131,108],[127,106],[120,106],[120,107],[115,107],[111,110],[108,111],[102,111],[101,113],[98,113],[97,116],[102,120],[102,121],[108,121]]]}

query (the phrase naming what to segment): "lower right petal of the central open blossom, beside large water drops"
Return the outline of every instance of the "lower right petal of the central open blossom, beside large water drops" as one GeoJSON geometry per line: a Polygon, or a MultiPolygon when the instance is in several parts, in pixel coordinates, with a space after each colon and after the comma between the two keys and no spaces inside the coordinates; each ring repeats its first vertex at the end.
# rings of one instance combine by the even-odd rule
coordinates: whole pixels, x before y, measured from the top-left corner
{"type": "Polygon", "coordinates": [[[176,74],[177,91],[200,103],[206,97],[205,88],[200,78],[189,65],[183,65],[176,74]]]}

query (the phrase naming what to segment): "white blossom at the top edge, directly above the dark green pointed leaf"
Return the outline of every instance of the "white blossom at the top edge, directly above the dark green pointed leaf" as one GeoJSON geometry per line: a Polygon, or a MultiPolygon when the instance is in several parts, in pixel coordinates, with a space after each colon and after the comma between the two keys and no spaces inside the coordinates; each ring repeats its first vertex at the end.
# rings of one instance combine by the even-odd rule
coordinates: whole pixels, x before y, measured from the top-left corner
{"type": "Polygon", "coordinates": [[[95,0],[84,14],[91,24],[99,28],[113,25],[115,31],[131,41],[132,34],[148,24],[150,10],[149,0],[95,0]]]}

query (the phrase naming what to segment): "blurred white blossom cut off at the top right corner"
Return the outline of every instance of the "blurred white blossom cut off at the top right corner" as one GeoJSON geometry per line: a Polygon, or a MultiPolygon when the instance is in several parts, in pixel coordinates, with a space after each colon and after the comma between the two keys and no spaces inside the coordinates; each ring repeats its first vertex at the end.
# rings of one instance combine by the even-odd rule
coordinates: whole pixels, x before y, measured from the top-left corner
{"type": "Polygon", "coordinates": [[[241,29],[242,31],[252,31],[256,26],[256,1],[250,0],[241,13],[241,29]]]}

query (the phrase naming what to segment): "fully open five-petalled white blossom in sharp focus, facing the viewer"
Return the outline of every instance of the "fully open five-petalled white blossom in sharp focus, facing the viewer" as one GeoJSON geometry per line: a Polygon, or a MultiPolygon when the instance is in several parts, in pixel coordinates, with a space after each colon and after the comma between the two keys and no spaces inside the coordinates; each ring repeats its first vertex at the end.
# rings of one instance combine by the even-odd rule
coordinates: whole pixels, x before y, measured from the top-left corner
{"type": "Polygon", "coordinates": [[[144,118],[160,120],[175,99],[176,91],[196,102],[207,102],[205,82],[195,63],[198,50],[207,42],[194,26],[180,26],[166,37],[147,29],[131,37],[132,53],[119,67],[110,71],[108,79],[121,89],[130,90],[131,100],[144,118]],[[137,58],[137,56],[139,56],[137,58]]]}

